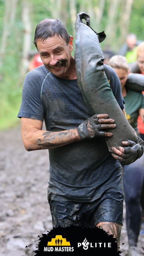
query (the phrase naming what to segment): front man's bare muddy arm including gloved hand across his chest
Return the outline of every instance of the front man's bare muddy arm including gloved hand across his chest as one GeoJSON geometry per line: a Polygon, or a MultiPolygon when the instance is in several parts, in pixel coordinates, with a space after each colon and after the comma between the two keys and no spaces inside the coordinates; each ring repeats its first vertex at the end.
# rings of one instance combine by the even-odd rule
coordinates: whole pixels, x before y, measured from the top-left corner
{"type": "Polygon", "coordinates": [[[101,129],[116,127],[114,120],[107,119],[107,117],[108,115],[106,114],[95,115],[95,118],[92,119],[92,126],[89,124],[89,120],[82,123],[85,124],[85,130],[84,127],[82,129],[78,127],[61,132],[42,131],[43,121],[21,117],[21,137],[25,149],[27,151],[32,151],[58,148],[72,142],[85,139],[86,137],[112,136],[112,133],[104,131],[99,132],[101,129]],[[97,123],[95,124],[94,122],[97,123]],[[93,131],[93,129],[95,130],[93,131]]]}

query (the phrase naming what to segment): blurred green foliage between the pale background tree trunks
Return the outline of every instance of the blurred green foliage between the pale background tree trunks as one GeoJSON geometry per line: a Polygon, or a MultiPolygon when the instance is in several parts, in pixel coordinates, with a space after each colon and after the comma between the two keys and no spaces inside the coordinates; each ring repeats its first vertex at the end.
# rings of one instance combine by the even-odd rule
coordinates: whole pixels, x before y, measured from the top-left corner
{"type": "MultiPolygon", "coordinates": [[[[36,25],[44,18],[64,18],[66,22],[66,28],[68,33],[73,35],[74,24],[71,21],[70,1],[71,0],[29,0],[30,2],[30,18],[32,22],[32,41],[34,40],[34,32],[36,25]],[[58,6],[57,3],[64,4],[64,8],[58,6]],[[60,16],[61,15],[61,16],[60,16]]],[[[103,16],[100,23],[100,27],[97,31],[96,24],[96,10],[99,8],[100,0],[76,0],[76,13],[85,11],[91,17],[91,26],[97,32],[102,31],[107,27],[108,23],[108,11],[110,2],[112,0],[105,0],[105,6],[103,9],[103,16]],[[90,11],[89,11],[90,10],[90,11]],[[93,11],[93,12],[92,12],[93,11]],[[89,13],[90,12],[90,13],[89,13]],[[93,13],[93,14],[92,14],[93,13]]],[[[114,0],[113,0],[114,1],[114,0]]],[[[0,129],[8,128],[19,123],[20,120],[16,117],[20,109],[21,103],[21,90],[20,84],[20,65],[23,50],[23,23],[21,21],[22,12],[22,0],[18,0],[16,8],[16,17],[14,25],[9,32],[7,39],[7,48],[3,60],[3,65],[0,68],[0,129]]],[[[120,35],[120,20],[121,20],[121,5],[117,11],[115,20],[116,33],[110,46],[114,50],[118,50],[121,46],[119,43],[120,35]]],[[[4,28],[4,13],[5,13],[5,0],[0,0],[0,39],[2,37],[2,30],[4,28]]],[[[144,2],[142,0],[133,0],[132,14],[130,18],[129,31],[137,35],[138,39],[144,40],[144,2]]],[[[106,31],[107,34],[107,31],[106,31]]],[[[74,37],[75,35],[73,35],[74,37]]],[[[101,44],[102,48],[105,48],[107,39],[101,44]]],[[[31,42],[31,49],[35,50],[35,46],[31,42]]],[[[72,52],[74,55],[74,50],[72,52]]]]}

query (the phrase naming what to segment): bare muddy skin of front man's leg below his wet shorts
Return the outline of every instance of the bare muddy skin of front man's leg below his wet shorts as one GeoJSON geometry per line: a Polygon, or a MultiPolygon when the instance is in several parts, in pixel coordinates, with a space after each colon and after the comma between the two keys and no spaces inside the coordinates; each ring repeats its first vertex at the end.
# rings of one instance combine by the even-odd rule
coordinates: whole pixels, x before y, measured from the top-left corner
{"type": "Polygon", "coordinates": [[[99,222],[96,224],[96,227],[99,227],[106,232],[109,233],[109,235],[114,235],[114,238],[117,239],[117,245],[119,247],[120,242],[120,236],[121,236],[121,225],[114,222],[99,222]]]}

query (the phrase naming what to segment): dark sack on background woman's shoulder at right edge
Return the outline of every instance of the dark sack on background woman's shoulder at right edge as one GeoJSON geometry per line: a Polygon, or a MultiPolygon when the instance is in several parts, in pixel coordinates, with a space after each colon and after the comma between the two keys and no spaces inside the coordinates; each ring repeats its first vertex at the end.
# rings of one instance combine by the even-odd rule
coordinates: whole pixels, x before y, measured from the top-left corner
{"type": "Polygon", "coordinates": [[[125,87],[131,89],[132,91],[144,91],[144,75],[133,73],[128,74],[125,87]]]}

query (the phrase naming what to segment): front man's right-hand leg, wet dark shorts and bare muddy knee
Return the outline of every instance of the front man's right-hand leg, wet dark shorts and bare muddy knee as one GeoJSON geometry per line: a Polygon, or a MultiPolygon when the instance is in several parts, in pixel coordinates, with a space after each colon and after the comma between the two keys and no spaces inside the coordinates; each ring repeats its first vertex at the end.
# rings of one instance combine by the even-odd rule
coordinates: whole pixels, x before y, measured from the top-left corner
{"type": "Polygon", "coordinates": [[[123,199],[120,192],[107,192],[104,196],[89,203],[85,211],[85,220],[90,228],[100,227],[109,235],[114,235],[119,241],[121,236],[121,226],[123,221],[123,199]]]}

